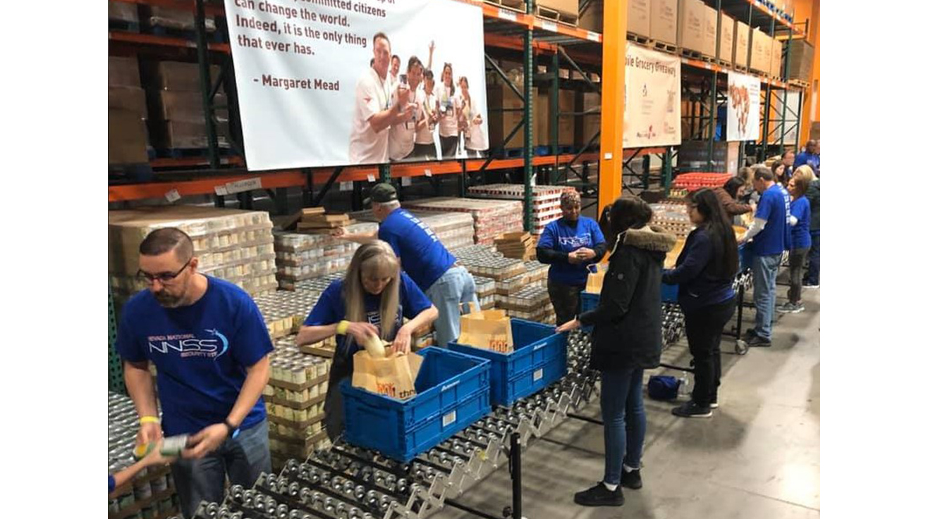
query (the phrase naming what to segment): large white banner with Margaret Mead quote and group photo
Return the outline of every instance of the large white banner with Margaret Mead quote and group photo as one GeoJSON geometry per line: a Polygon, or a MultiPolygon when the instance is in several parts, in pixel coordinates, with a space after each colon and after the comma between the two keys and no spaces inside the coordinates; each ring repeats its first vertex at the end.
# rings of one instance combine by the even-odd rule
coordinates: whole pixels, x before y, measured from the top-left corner
{"type": "Polygon", "coordinates": [[[226,0],[226,19],[249,170],[479,157],[488,147],[480,6],[226,0]]]}

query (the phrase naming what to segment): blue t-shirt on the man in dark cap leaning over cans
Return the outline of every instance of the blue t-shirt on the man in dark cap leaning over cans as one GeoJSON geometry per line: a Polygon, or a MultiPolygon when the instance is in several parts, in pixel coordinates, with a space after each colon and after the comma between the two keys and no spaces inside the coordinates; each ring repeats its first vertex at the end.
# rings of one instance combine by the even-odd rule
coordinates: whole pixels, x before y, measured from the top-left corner
{"type": "Polygon", "coordinates": [[[394,209],[380,222],[377,237],[393,247],[403,263],[403,271],[423,291],[455,264],[455,257],[438,241],[432,229],[406,209],[394,209]]]}

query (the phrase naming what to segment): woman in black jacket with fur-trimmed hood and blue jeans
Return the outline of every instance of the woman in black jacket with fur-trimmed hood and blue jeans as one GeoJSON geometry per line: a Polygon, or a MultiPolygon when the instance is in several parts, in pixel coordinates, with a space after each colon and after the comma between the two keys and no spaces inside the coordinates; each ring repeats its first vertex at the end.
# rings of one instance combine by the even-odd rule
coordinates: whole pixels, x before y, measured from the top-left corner
{"type": "Polygon", "coordinates": [[[602,372],[606,470],[595,487],[574,495],[574,502],[585,506],[621,506],[621,487],[641,487],[642,377],[661,362],[661,272],[677,243],[674,234],[648,225],[651,215],[637,196],[615,200],[609,215],[612,255],[599,306],[558,328],[565,332],[592,324],[590,367],[602,372]]]}

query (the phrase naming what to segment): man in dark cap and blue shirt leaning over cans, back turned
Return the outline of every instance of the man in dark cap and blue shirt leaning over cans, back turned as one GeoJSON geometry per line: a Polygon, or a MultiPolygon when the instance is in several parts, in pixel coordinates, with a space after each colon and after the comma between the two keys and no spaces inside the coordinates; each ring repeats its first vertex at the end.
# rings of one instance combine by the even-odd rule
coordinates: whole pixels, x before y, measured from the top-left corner
{"type": "Polygon", "coordinates": [[[377,184],[370,190],[370,209],[380,221],[376,234],[335,235],[358,243],[380,238],[393,247],[403,265],[403,272],[432,300],[438,309],[435,320],[435,344],[445,348],[460,335],[460,304],[470,303],[480,310],[473,276],[438,240],[432,229],[412,213],[400,207],[396,189],[391,184],[377,184]]]}

